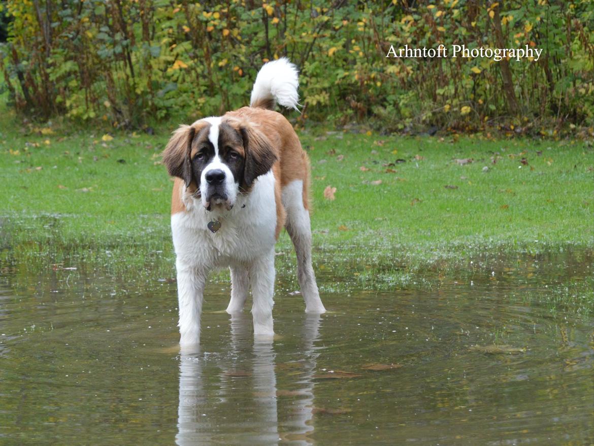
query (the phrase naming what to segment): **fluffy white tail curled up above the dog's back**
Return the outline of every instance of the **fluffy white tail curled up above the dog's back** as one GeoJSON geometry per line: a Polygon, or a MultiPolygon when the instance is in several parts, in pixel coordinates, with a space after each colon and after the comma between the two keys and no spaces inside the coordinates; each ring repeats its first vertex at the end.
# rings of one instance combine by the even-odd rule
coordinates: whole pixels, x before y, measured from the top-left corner
{"type": "Polygon", "coordinates": [[[258,72],[249,106],[272,110],[278,102],[287,109],[299,111],[298,87],[299,72],[289,59],[267,62],[258,72]]]}

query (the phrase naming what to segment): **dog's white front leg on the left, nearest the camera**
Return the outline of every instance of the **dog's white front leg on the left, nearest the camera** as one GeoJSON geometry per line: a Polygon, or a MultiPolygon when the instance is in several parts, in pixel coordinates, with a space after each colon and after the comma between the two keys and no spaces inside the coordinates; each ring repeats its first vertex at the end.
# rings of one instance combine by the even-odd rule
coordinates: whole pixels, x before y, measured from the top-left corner
{"type": "Polygon", "coordinates": [[[200,344],[200,315],[207,271],[182,261],[176,262],[178,271],[179,345],[191,349],[200,344]]]}

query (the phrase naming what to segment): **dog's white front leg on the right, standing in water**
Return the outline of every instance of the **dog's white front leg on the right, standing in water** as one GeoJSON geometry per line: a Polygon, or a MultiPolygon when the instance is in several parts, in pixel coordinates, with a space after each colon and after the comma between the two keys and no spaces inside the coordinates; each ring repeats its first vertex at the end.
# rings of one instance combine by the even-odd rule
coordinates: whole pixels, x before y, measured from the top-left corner
{"type": "Polygon", "coordinates": [[[274,305],[274,248],[257,258],[249,268],[252,282],[252,317],[254,336],[272,337],[272,307],[274,305]]]}

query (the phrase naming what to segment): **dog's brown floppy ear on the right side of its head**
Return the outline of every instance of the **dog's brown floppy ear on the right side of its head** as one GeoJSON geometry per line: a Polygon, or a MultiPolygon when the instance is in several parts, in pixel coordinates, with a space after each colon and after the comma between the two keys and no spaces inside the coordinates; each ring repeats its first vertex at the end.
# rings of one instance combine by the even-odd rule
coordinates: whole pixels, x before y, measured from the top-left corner
{"type": "Polygon", "coordinates": [[[249,188],[258,176],[264,175],[272,168],[278,157],[262,132],[251,125],[242,125],[239,132],[244,140],[245,150],[244,183],[245,187],[249,188]]]}

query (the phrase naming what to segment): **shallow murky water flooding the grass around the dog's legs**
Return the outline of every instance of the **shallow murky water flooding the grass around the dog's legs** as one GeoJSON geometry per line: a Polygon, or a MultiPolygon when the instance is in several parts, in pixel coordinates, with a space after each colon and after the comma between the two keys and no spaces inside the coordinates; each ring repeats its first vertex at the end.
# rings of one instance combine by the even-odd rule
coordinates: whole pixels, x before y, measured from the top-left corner
{"type": "Polygon", "coordinates": [[[168,278],[3,265],[0,443],[591,444],[592,317],[549,299],[580,259],[324,293],[321,317],[279,274],[271,342],[215,282],[191,356],[168,278]]]}

